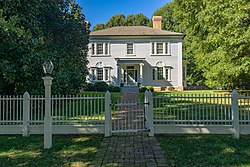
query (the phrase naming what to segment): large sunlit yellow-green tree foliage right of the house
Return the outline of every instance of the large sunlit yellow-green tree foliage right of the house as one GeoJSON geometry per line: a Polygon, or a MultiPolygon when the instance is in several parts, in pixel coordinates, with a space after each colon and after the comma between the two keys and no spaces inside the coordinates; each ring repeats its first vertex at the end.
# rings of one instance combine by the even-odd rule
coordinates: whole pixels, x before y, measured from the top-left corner
{"type": "Polygon", "coordinates": [[[183,32],[189,82],[209,87],[249,86],[250,3],[174,0],[155,15],[163,28],[183,32]]]}

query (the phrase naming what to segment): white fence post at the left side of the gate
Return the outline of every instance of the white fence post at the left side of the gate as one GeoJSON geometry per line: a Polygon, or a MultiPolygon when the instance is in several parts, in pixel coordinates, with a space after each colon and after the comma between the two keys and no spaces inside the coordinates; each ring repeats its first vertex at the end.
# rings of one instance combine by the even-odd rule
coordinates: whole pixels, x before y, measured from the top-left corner
{"type": "Polygon", "coordinates": [[[107,91],[105,93],[105,137],[111,136],[112,121],[110,104],[110,93],[107,91]]]}

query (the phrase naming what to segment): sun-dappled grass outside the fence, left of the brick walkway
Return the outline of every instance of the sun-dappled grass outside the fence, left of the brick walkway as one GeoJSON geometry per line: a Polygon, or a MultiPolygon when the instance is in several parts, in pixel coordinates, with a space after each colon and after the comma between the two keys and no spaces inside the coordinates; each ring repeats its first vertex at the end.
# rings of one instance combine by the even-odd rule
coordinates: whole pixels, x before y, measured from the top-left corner
{"type": "Polygon", "coordinates": [[[100,135],[54,135],[43,149],[43,136],[0,135],[0,166],[89,166],[102,142],[100,135]]]}

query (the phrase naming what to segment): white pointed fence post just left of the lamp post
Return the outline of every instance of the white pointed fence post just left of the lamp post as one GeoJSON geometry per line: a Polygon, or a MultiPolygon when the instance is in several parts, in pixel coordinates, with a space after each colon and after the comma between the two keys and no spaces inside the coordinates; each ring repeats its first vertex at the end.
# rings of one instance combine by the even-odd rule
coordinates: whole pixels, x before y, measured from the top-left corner
{"type": "Polygon", "coordinates": [[[30,121],[30,94],[26,91],[23,94],[23,126],[22,126],[23,136],[29,136],[29,121],[30,121]]]}

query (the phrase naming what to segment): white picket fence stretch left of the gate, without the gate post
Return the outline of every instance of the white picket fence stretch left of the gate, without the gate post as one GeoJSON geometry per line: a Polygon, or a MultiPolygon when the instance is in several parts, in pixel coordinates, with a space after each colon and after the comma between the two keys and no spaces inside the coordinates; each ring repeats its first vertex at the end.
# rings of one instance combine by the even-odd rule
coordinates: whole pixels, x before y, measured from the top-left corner
{"type": "MultiPolygon", "coordinates": [[[[104,133],[105,97],[103,95],[56,95],[51,97],[51,105],[52,122],[55,127],[73,125],[71,127],[88,127],[89,129],[67,129],[72,133],[80,131],[104,133]],[[100,128],[96,126],[103,127],[100,131],[100,128]],[[94,131],[90,129],[92,127],[95,128],[94,131]]],[[[42,133],[44,116],[44,96],[30,96],[27,92],[23,96],[0,96],[0,125],[4,125],[0,127],[0,134],[22,133],[27,136],[30,133],[42,133]]],[[[63,129],[60,133],[64,133],[63,129]]]]}

